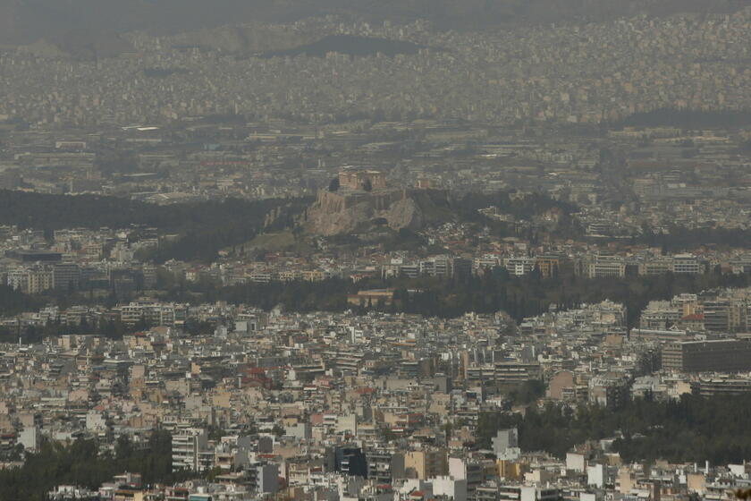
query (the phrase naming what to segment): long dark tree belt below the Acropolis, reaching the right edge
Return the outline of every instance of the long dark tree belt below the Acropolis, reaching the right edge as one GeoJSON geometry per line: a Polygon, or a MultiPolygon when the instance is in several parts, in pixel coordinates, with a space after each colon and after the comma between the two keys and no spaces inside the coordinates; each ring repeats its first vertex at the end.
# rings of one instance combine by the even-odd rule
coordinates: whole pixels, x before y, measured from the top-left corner
{"type": "Polygon", "coordinates": [[[228,301],[271,310],[282,305],[293,311],[364,312],[382,310],[416,313],[429,317],[456,318],[467,312],[494,313],[502,310],[517,321],[548,311],[577,308],[583,303],[606,299],[627,307],[628,325],[636,327],[639,315],[649,301],[669,300],[679,293],[699,293],[716,287],[747,287],[747,275],[706,273],[702,275],[625,276],[586,278],[561,267],[557,276],[544,278],[538,271],[527,276],[511,276],[496,267],[483,276],[417,278],[370,278],[353,284],[333,278],[321,282],[272,282],[223,287],[218,282],[175,282],[165,292],[171,301],[228,301]],[[347,295],[361,290],[392,288],[392,304],[369,302],[351,305],[347,295]]]}

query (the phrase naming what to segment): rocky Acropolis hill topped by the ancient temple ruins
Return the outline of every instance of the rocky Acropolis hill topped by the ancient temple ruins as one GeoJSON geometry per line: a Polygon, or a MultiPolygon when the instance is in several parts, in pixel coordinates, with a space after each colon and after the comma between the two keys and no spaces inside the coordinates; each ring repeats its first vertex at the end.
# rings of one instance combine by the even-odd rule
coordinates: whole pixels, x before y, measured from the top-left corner
{"type": "Polygon", "coordinates": [[[367,231],[378,220],[393,230],[416,230],[443,220],[447,205],[443,190],[388,186],[384,173],[345,169],[336,191],[318,191],[307,218],[312,233],[326,236],[367,231]]]}

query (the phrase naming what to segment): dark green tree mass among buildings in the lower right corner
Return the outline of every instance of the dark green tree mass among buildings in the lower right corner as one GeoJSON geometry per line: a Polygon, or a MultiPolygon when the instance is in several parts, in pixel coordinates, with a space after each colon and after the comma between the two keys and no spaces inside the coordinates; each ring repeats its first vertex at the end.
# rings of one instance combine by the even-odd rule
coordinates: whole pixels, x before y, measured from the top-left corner
{"type": "Polygon", "coordinates": [[[524,416],[483,413],[476,436],[479,446],[489,448],[499,429],[516,427],[522,450],[560,458],[586,441],[615,438],[613,449],[625,462],[741,463],[751,457],[749,407],[751,394],[682,395],[669,401],[646,395],[617,408],[550,403],[544,409],[529,407],[524,416]]]}

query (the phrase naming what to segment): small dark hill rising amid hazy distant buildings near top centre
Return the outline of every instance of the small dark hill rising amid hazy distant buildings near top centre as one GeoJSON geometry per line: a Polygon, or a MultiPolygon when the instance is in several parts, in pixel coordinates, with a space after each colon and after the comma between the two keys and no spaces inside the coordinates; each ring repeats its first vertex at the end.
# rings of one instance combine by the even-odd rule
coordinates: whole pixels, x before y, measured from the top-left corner
{"type": "Polygon", "coordinates": [[[384,55],[393,56],[397,54],[416,54],[419,49],[420,46],[416,44],[399,40],[356,37],[353,35],[331,35],[304,46],[265,52],[262,56],[284,57],[288,55],[308,55],[313,57],[324,57],[329,52],[338,52],[340,54],[348,55],[375,55],[382,53],[384,55]]]}

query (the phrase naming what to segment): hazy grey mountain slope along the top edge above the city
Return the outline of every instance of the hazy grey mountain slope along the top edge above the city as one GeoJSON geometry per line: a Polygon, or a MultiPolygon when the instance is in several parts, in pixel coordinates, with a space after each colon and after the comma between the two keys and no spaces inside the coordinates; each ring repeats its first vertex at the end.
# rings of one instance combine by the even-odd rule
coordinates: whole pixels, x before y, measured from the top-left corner
{"type": "Polygon", "coordinates": [[[0,0],[0,44],[29,44],[92,27],[165,35],[329,13],[371,21],[423,18],[441,28],[477,29],[637,13],[729,13],[748,5],[751,0],[0,0]]]}

